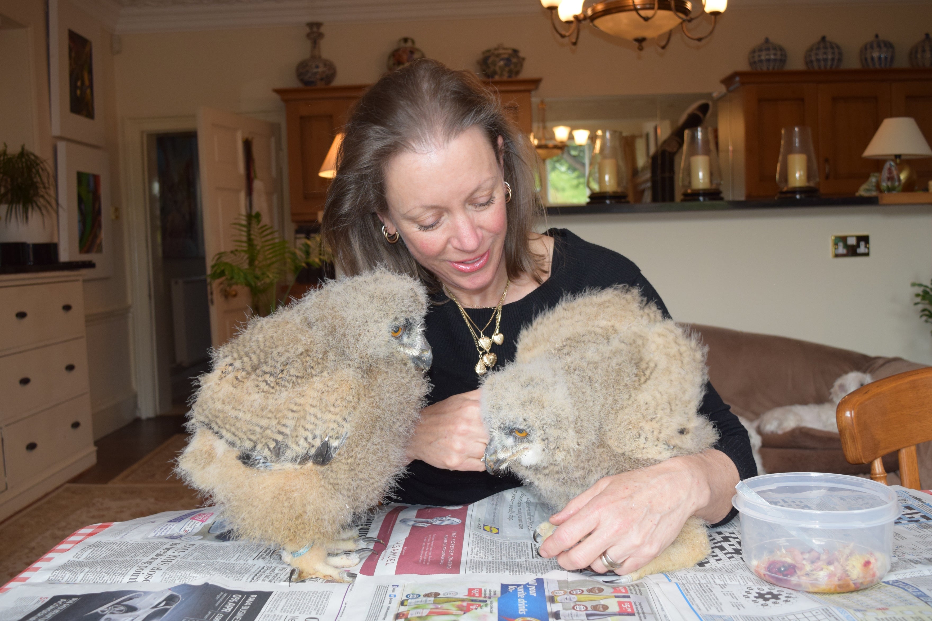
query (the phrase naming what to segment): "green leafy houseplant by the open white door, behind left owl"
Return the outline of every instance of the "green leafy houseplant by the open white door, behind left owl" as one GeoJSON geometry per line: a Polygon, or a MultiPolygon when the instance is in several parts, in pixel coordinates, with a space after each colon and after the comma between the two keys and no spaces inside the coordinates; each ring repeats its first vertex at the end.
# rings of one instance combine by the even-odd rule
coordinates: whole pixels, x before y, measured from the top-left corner
{"type": "Polygon", "coordinates": [[[213,257],[207,278],[220,282],[222,290],[234,286],[249,289],[254,314],[266,316],[287,300],[301,269],[319,268],[327,255],[319,239],[306,240],[292,247],[262,214],[244,214],[231,225],[236,230],[233,250],[213,257]],[[291,274],[284,297],[276,295],[276,285],[291,274]]]}

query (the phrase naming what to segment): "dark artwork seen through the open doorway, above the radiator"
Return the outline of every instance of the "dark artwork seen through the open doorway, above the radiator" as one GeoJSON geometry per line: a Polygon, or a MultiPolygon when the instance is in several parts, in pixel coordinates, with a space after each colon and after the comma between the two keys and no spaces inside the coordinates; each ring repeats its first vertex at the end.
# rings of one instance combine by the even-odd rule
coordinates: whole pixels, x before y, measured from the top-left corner
{"type": "Polygon", "coordinates": [[[202,257],[198,134],[194,131],[160,134],[156,137],[156,154],[162,258],[202,257]]]}

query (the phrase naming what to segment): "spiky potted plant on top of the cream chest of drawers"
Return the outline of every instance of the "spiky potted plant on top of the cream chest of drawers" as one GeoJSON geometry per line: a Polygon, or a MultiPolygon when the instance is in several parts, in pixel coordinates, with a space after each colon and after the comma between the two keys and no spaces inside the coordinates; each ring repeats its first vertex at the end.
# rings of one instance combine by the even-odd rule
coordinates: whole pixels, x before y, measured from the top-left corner
{"type": "MultiPolygon", "coordinates": [[[[25,145],[19,151],[9,151],[6,144],[0,149],[0,205],[6,206],[0,235],[0,264],[25,265],[30,261],[29,242],[48,242],[53,238],[53,232],[44,230],[46,216],[55,216],[58,211],[51,167],[25,145]],[[36,216],[41,218],[42,230],[34,226],[36,216]]],[[[57,244],[34,245],[44,246],[47,255],[54,254],[54,260],[46,262],[58,261],[57,244]],[[54,253],[49,246],[55,246],[54,253]]]]}

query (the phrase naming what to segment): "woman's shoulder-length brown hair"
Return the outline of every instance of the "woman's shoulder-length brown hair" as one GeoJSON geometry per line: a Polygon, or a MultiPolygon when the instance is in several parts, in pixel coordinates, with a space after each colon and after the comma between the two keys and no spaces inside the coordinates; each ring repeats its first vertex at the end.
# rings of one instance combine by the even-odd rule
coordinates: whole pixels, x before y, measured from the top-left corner
{"type": "Polygon", "coordinates": [[[534,188],[536,153],[530,141],[476,76],[427,59],[382,76],[363,94],[343,128],[322,225],[323,240],[343,274],[353,276],[385,265],[420,279],[434,292],[440,290],[440,282],[418,264],[404,243],[390,244],[382,235],[377,214],[389,210],[385,170],[403,150],[443,145],[473,127],[487,137],[504,180],[512,187],[504,250],[508,276],[527,274],[541,282],[545,257],[533,253],[529,244],[532,228],[543,214],[534,188]]]}

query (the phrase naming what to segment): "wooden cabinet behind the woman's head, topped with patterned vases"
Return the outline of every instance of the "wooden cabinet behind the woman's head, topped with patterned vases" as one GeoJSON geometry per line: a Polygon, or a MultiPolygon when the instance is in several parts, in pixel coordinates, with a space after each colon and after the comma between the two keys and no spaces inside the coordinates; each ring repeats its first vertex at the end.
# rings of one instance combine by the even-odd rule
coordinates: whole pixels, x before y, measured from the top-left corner
{"type": "MultiPolygon", "coordinates": [[[[525,133],[531,131],[530,93],[541,83],[534,79],[488,80],[502,105],[525,133]]],[[[368,85],[276,89],[285,104],[288,139],[288,189],[292,221],[316,222],[327,197],[329,180],[318,175],[339,128],[368,85]]]]}

